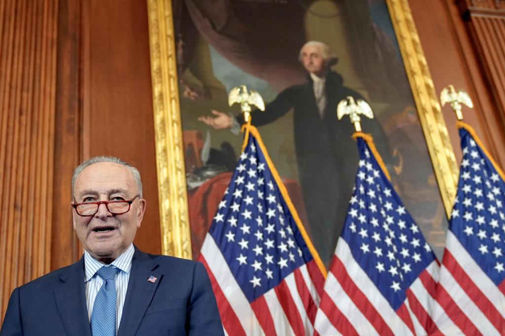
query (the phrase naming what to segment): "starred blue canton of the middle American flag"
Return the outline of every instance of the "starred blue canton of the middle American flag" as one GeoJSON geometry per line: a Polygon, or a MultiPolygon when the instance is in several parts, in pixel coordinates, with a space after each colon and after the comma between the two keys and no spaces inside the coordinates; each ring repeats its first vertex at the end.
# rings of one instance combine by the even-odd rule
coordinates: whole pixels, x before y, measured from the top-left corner
{"type": "Polygon", "coordinates": [[[435,255],[363,138],[358,148],[360,163],[342,238],[396,310],[435,255]]]}

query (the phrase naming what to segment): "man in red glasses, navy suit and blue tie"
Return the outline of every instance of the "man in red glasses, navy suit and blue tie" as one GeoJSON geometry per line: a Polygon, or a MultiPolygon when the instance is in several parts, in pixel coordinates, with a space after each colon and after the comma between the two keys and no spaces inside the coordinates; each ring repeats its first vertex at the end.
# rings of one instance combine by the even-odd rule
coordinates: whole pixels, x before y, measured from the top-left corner
{"type": "Polygon", "coordinates": [[[15,289],[0,335],[223,334],[203,265],[132,244],[145,211],[137,169],[115,157],[86,160],[72,197],[84,255],[15,289]]]}

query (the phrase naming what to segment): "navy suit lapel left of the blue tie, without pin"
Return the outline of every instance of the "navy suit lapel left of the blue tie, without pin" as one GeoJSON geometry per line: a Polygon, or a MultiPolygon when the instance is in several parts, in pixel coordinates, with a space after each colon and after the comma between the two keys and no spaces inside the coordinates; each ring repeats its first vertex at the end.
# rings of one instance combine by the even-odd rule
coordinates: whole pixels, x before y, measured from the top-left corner
{"type": "Polygon", "coordinates": [[[54,293],[65,330],[70,335],[91,336],[84,294],[84,257],[61,274],[60,280],[54,293]]]}

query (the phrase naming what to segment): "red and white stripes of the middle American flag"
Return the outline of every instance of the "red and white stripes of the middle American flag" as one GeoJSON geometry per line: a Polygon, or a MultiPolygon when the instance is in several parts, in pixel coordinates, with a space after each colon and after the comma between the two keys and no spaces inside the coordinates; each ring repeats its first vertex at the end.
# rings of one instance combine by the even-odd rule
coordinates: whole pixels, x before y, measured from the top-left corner
{"type": "Polygon", "coordinates": [[[426,334],[434,325],[431,294],[437,273],[438,265],[433,261],[395,311],[352,257],[348,244],[339,239],[315,328],[320,335],[426,334]]]}

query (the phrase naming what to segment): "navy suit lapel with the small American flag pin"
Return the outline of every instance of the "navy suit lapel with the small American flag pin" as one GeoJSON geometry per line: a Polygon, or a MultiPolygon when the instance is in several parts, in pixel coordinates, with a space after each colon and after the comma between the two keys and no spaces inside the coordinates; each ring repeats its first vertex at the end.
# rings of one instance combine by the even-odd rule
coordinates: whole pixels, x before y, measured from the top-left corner
{"type": "Polygon", "coordinates": [[[157,266],[149,255],[135,247],[118,335],[134,335],[137,331],[163,275],[157,266]],[[151,275],[157,277],[154,284],[147,281],[151,275]]]}

